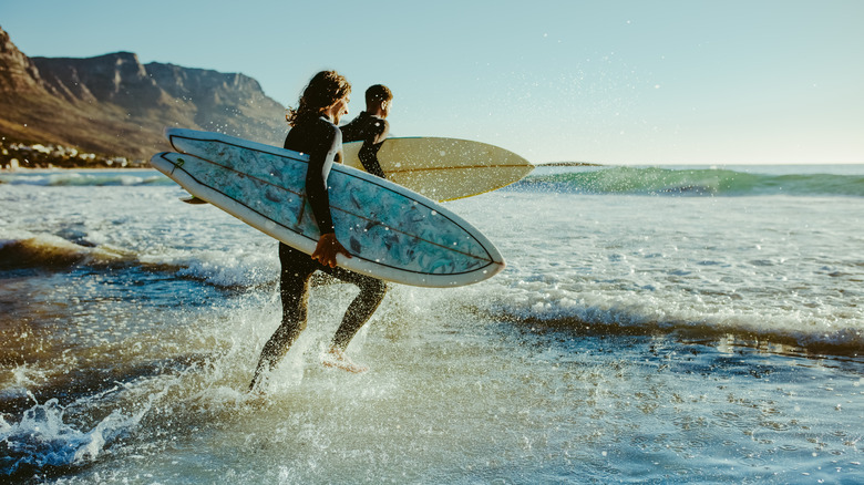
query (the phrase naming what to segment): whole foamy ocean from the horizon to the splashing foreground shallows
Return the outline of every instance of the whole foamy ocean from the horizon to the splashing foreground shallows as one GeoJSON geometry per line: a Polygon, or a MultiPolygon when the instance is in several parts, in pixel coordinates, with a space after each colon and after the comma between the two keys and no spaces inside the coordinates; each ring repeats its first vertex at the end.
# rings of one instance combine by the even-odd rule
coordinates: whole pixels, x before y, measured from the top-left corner
{"type": "Polygon", "coordinates": [[[277,245],[155,171],[0,174],[0,482],[864,482],[864,165],[538,167],[507,268],[354,295],[246,393],[277,245]]]}

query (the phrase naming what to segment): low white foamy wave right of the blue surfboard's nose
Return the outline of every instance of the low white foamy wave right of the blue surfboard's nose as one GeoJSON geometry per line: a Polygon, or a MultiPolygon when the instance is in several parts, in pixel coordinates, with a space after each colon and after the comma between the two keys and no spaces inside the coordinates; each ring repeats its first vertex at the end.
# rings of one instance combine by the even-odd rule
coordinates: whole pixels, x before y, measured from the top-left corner
{"type": "Polygon", "coordinates": [[[864,320],[846,314],[846,309],[785,311],[723,303],[722,298],[708,303],[689,293],[636,298],[631,292],[565,290],[542,281],[517,287],[467,292],[462,305],[495,320],[577,334],[673,336],[714,344],[732,339],[737,344],[833,355],[861,355],[864,349],[864,320]]]}

